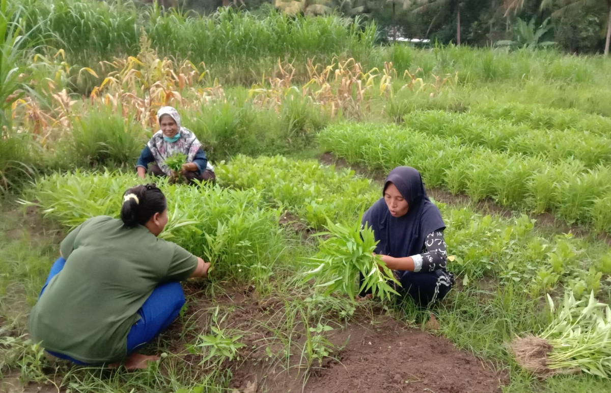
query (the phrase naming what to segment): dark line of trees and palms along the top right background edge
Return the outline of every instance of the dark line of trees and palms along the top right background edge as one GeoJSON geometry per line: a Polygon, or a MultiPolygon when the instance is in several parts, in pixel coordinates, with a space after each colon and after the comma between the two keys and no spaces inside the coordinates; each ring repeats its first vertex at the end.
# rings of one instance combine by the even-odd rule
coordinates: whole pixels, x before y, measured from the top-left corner
{"type": "MultiPolygon", "coordinates": [[[[150,2],[151,0],[141,0],[150,2]]],[[[472,46],[557,47],[609,53],[611,0],[159,0],[165,7],[213,12],[338,12],[375,21],[380,40],[398,37],[472,46]]]]}

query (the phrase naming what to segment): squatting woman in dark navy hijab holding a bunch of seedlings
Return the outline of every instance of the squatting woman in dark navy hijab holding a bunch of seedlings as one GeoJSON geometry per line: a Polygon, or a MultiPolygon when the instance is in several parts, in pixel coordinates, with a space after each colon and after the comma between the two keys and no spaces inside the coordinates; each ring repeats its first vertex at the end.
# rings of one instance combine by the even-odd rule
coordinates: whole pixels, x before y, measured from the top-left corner
{"type": "MultiPolygon", "coordinates": [[[[375,252],[401,283],[398,291],[426,306],[445,297],[455,283],[446,270],[445,223],[411,167],[390,171],[382,198],[363,216],[375,233],[375,252]]],[[[367,293],[361,293],[366,296],[367,293]]]]}

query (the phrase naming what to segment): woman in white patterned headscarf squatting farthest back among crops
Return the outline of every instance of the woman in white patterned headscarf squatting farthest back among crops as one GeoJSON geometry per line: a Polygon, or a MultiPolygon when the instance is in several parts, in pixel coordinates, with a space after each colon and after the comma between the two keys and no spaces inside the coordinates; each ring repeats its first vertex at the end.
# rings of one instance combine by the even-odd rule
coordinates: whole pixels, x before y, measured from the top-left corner
{"type": "Polygon", "coordinates": [[[157,112],[159,131],[148,141],[142,149],[136,170],[138,176],[144,179],[147,173],[155,176],[172,176],[172,170],[167,166],[166,159],[174,154],[181,153],[187,156],[180,174],[188,182],[193,180],[214,181],[214,168],[208,162],[202,144],[195,134],[180,125],[180,114],[173,107],[162,107],[157,112]]]}

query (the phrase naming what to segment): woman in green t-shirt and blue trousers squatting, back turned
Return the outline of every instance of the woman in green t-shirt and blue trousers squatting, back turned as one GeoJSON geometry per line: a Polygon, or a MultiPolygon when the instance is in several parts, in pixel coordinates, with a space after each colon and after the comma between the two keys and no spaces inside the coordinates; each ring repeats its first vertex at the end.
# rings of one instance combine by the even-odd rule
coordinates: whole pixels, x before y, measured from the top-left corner
{"type": "Polygon", "coordinates": [[[210,268],[157,238],[166,223],[166,197],[148,184],[125,192],[120,220],[101,215],[71,231],[32,309],[32,339],[76,364],[125,361],[131,370],[158,360],[136,350],[185,304],[179,281],[207,277],[210,268]]]}

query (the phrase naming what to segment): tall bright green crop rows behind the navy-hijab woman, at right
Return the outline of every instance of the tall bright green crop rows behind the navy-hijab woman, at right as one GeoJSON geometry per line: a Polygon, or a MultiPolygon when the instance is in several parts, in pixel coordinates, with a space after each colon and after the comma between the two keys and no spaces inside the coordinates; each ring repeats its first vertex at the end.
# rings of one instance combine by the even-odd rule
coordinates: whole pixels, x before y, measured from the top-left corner
{"type": "MultiPolygon", "coordinates": [[[[386,172],[397,165],[411,165],[422,171],[429,186],[466,192],[475,201],[493,198],[503,206],[529,212],[552,211],[566,222],[611,231],[608,165],[599,162],[588,167],[577,154],[569,152],[564,138],[553,137],[555,131],[548,137],[547,130],[518,132],[503,121],[478,124],[477,117],[456,116],[450,121],[447,116],[412,114],[406,125],[337,124],[324,129],[318,139],[323,149],[350,163],[386,172]],[[554,141],[554,145],[544,149],[546,143],[541,142],[539,150],[535,135],[554,141]],[[518,140],[523,141],[524,148],[518,140]],[[555,150],[557,146],[563,148],[555,150]]],[[[566,133],[566,143],[570,143],[571,132],[566,133]]],[[[592,144],[604,141],[597,138],[592,144]]],[[[579,144],[573,147],[574,151],[580,149],[579,144]]],[[[584,157],[588,157],[585,150],[584,157]]],[[[608,153],[604,148],[600,151],[599,157],[608,153]]]]}

